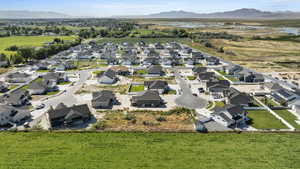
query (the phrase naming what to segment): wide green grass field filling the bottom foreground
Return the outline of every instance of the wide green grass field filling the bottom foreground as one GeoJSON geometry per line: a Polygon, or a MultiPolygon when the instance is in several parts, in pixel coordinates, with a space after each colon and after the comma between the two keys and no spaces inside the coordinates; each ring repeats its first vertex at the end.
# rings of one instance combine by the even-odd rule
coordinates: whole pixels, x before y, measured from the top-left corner
{"type": "Polygon", "coordinates": [[[296,169],[299,134],[1,133],[1,168],[296,169]]]}

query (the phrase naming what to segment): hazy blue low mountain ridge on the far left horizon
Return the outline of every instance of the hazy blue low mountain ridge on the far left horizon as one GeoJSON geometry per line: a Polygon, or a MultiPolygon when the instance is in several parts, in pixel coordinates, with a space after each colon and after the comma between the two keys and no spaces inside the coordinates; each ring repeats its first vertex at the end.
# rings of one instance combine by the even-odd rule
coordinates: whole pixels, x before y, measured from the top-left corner
{"type": "Polygon", "coordinates": [[[0,19],[69,18],[69,15],[42,11],[0,11],[0,19]]]}

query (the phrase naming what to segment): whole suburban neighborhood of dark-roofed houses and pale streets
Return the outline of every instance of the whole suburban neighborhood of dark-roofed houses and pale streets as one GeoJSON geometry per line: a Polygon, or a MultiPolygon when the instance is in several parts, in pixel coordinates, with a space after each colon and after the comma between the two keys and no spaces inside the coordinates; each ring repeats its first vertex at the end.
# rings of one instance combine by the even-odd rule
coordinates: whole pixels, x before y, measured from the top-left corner
{"type": "Polygon", "coordinates": [[[109,112],[178,108],[195,111],[200,132],[294,131],[300,122],[298,89],[177,42],[90,42],[18,69],[1,81],[3,129],[84,129],[109,112]],[[260,127],[257,113],[284,127],[260,127]]]}

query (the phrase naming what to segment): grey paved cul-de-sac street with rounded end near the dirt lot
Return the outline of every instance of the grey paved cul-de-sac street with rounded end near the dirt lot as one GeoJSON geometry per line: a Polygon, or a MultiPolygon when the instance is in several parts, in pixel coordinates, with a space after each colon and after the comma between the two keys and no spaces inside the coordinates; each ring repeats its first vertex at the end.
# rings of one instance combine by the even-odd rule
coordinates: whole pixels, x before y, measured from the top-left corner
{"type": "Polygon", "coordinates": [[[203,98],[193,96],[189,84],[183,78],[181,78],[180,74],[176,70],[174,72],[176,81],[182,90],[182,95],[175,100],[175,103],[178,106],[189,109],[205,108],[208,104],[208,101],[203,98]]]}

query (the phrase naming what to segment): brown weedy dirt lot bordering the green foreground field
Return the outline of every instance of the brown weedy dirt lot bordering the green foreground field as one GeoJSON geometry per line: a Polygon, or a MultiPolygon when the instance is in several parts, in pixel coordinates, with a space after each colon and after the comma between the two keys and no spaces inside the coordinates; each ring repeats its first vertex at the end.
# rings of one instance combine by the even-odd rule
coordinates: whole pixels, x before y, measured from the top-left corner
{"type": "Polygon", "coordinates": [[[97,125],[105,131],[194,131],[191,114],[191,111],[181,108],[171,111],[112,111],[106,112],[97,125]]]}

